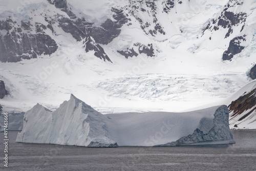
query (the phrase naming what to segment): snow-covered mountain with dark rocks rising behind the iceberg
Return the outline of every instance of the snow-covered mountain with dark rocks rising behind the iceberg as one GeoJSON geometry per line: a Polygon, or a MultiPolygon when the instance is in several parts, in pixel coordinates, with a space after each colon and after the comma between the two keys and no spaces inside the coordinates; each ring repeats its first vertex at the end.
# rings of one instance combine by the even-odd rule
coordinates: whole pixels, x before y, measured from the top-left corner
{"type": "Polygon", "coordinates": [[[0,80],[9,92],[0,104],[55,110],[73,93],[101,113],[219,105],[256,78],[255,7],[0,0],[0,80]]]}

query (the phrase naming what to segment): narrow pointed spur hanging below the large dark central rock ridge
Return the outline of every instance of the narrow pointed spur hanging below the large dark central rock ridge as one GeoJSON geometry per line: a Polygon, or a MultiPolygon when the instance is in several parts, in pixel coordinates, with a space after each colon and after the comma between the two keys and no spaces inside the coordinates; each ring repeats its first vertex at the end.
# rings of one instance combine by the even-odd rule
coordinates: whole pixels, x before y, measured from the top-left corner
{"type": "Polygon", "coordinates": [[[99,46],[97,43],[95,43],[91,37],[87,37],[86,40],[83,41],[83,47],[86,48],[86,52],[94,50],[94,55],[97,56],[100,59],[108,60],[111,62],[108,55],[105,54],[104,49],[99,46]]]}

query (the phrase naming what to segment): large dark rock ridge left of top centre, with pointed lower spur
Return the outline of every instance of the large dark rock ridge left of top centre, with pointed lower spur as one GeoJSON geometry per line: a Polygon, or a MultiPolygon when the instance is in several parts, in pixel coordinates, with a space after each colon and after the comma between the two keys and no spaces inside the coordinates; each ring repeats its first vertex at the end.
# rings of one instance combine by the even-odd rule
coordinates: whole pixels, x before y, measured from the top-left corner
{"type": "Polygon", "coordinates": [[[100,59],[111,62],[108,55],[105,54],[103,48],[99,44],[109,44],[115,37],[120,34],[120,28],[127,22],[123,10],[112,8],[114,22],[111,19],[101,24],[101,27],[93,27],[93,23],[87,22],[84,18],[77,18],[75,14],[71,14],[71,9],[67,6],[66,1],[50,1],[56,8],[66,12],[70,18],[58,15],[59,27],[66,33],[70,33],[77,41],[83,40],[83,47],[86,52],[95,51],[94,55],[100,59]],[[76,20],[74,20],[77,18],[76,20]],[[93,39],[92,39],[92,38],[93,39]]]}

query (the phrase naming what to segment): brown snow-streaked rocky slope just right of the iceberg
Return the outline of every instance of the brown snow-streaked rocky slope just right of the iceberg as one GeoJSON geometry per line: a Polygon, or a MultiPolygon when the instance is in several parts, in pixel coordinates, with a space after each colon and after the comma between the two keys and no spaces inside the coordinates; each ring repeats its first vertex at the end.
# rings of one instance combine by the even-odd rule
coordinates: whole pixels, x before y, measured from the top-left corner
{"type": "Polygon", "coordinates": [[[238,117],[245,111],[249,110],[250,112],[241,117],[239,121],[247,118],[253,111],[256,110],[256,89],[252,90],[246,95],[240,96],[237,100],[232,101],[231,104],[228,105],[228,108],[229,112],[233,111],[231,117],[238,117]]]}

